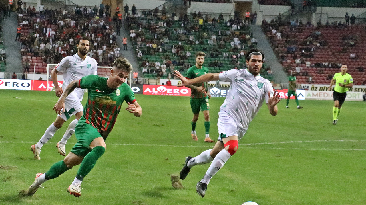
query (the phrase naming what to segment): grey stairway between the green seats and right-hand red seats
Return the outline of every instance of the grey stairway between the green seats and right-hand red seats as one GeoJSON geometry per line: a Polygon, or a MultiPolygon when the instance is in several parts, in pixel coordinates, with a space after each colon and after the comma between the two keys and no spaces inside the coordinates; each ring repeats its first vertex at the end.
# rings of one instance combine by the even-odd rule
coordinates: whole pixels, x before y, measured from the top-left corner
{"type": "Polygon", "coordinates": [[[261,26],[250,25],[250,31],[253,33],[253,36],[255,36],[258,40],[257,48],[261,49],[265,54],[266,64],[273,71],[273,76],[275,78],[274,81],[276,83],[287,83],[288,78],[286,76],[286,73],[283,71],[281,63],[278,62],[277,57],[273,52],[272,47],[270,46],[266,38],[266,35],[262,31],[261,26]]]}

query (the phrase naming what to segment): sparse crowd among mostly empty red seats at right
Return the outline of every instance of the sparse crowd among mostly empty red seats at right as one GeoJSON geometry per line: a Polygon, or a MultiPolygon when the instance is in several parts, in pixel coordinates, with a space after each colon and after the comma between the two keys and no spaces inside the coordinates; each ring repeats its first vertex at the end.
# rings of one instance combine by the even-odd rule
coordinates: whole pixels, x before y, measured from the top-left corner
{"type": "Polygon", "coordinates": [[[322,25],[320,21],[314,26],[311,22],[282,20],[279,16],[270,22],[264,19],[262,29],[285,72],[288,75],[295,72],[299,82],[328,84],[345,63],[355,84],[363,84],[364,65],[357,60],[363,55],[365,36],[361,31],[364,28],[354,26],[354,20],[351,26],[346,22],[322,25]]]}

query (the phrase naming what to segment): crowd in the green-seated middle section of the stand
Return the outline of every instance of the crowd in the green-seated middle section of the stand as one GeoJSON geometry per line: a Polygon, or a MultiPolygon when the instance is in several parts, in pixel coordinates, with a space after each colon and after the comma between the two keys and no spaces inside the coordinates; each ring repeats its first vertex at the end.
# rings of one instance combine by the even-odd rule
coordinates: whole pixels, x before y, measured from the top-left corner
{"type": "Polygon", "coordinates": [[[249,21],[225,21],[222,14],[212,18],[201,12],[168,16],[163,11],[142,11],[126,19],[145,77],[174,78],[173,70],[184,73],[194,64],[197,51],[206,53],[210,72],[239,69],[245,65],[246,50],[258,42],[249,31],[249,21]]]}

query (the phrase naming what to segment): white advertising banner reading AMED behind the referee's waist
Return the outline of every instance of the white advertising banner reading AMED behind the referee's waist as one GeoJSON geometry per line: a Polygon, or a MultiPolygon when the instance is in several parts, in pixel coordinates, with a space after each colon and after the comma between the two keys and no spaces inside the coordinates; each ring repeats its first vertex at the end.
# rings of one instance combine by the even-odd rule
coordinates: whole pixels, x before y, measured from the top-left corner
{"type": "MultiPolygon", "coordinates": [[[[361,92],[347,92],[346,100],[362,101],[363,93],[361,92]]],[[[333,100],[333,91],[317,91],[305,90],[306,100],[333,100]]]]}

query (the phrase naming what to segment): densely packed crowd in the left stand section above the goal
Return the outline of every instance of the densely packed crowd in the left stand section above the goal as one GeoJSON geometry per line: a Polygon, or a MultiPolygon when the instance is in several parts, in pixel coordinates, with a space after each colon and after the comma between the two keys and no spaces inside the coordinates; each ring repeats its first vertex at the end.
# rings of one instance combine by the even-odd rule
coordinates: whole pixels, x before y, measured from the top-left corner
{"type": "Polygon", "coordinates": [[[96,59],[99,66],[111,66],[120,55],[115,32],[118,22],[111,18],[109,5],[94,8],[76,5],[73,12],[66,8],[41,7],[36,12],[30,6],[19,7],[16,11],[16,40],[21,43],[25,71],[29,72],[37,62],[36,70],[42,73],[47,64],[57,64],[64,57],[73,55],[77,51],[76,41],[81,36],[91,39],[88,55],[96,59]]]}

